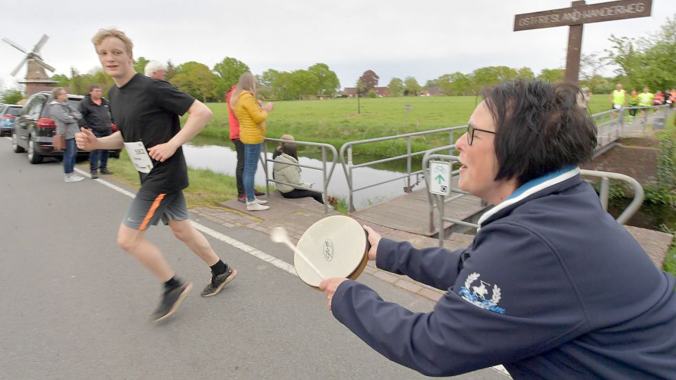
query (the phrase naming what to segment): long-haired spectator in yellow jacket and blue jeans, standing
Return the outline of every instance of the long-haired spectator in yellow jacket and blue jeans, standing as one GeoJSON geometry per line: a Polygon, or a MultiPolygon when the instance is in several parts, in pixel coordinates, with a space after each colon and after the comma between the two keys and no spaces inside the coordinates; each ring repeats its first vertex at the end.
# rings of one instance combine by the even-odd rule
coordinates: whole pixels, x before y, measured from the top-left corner
{"type": "Polygon", "coordinates": [[[268,201],[258,199],[254,193],[254,177],[258,168],[258,159],[261,156],[261,147],[265,140],[265,119],[274,106],[272,103],[263,105],[256,98],[256,77],[244,73],[239,77],[237,89],[230,98],[230,107],[239,120],[239,139],[244,144],[244,173],[242,181],[246,192],[246,209],[249,211],[268,210],[265,205],[268,201]]]}

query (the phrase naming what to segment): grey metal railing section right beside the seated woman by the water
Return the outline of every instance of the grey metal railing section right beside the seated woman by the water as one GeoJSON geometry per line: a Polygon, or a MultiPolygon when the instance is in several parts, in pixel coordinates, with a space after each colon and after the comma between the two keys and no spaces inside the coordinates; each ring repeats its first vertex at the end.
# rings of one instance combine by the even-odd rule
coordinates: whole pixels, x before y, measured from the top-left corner
{"type": "MultiPolygon", "coordinates": [[[[331,181],[331,175],[334,174],[334,168],[336,168],[336,163],[338,162],[338,152],[336,151],[336,148],[332,146],[331,144],[324,144],[320,142],[305,142],[305,141],[289,141],[285,139],[272,139],[266,137],[265,140],[263,141],[263,153],[265,155],[261,155],[261,163],[263,164],[263,170],[265,171],[265,190],[267,191],[267,194],[270,194],[270,182],[272,183],[282,183],[284,185],[289,185],[293,186],[294,188],[298,188],[301,190],[316,190],[312,188],[307,188],[305,186],[298,186],[296,184],[292,183],[287,183],[284,181],[276,181],[274,178],[272,178],[272,175],[270,175],[270,172],[268,172],[268,162],[279,162],[280,164],[285,164],[285,165],[293,165],[293,166],[298,166],[301,168],[308,168],[308,169],[314,169],[314,170],[321,170],[322,171],[322,191],[321,193],[324,194],[324,213],[326,214],[329,212],[329,202],[328,202],[328,195],[329,195],[329,182],[331,181]],[[268,142],[283,142],[283,143],[293,143],[296,145],[304,145],[304,146],[318,146],[322,149],[322,166],[309,166],[309,165],[303,165],[303,164],[290,164],[287,161],[279,161],[276,159],[271,159],[268,158],[268,142]],[[331,159],[331,167],[327,168],[327,150],[330,151],[333,155],[331,159]]],[[[274,171],[274,169],[273,169],[274,171]]]]}

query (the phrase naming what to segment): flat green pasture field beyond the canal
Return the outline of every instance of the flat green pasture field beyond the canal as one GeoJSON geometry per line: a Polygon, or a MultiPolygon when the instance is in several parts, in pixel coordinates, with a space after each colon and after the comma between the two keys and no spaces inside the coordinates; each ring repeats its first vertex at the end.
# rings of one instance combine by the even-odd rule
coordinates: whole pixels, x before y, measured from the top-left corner
{"type": "MultiPolygon", "coordinates": [[[[345,142],[400,135],[417,131],[467,124],[481,98],[474,96],[336,98],[274,102],[268,118],[267,137],[294,135],[297,140],[323,142],[340,148],[345,142]],[[409,110],[406,111],[406,104],[409,110]]],[[[201,135],[228,139],[228,114],[225,103],[208,103],[214,112],[201,135]]],[[[607,111],[609,98],[595,94],[589,104],[593,112],[607,111]]],[[[458,135],[459,136],[459,135],[458,135]]],[[[406,142],[396,140],[357,147],[371,155],[401,154],[406,142]]],[[[413,139],[413,150],[448,144],[448,135],[435,134],[413,139]]]]}

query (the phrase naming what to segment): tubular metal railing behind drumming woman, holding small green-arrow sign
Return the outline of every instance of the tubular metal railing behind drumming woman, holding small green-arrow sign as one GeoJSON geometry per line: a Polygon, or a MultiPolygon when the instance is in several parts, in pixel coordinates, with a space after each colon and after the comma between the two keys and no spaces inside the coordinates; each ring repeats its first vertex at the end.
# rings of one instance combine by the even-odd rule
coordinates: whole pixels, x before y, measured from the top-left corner
{"type": "MultiPolygon", "coordinates": [[[[455,146],[444,146],[438,148],[439,150],[446,150],[450,147],[455,148],[455,146]]],[[[429,161],[435,159],[437,161],[449,161],[451,168],[453,168],[453,163],[457,162],[459,163],[459,157],[453,156],[453,155],[439,155],[435,153],[427,153],[424,155],[423,160],[422,160],[422,168],[423,168],[423,173],[425,177],[425,183],[427,187],[430,187],[430,175],[429,175],[429,161]]],[[[451,170],[451,179],[453,179],[453,175],[457,175],[459,170],[451,170]]],[[[622,214],[618,216],[616,221],[620,224],[624,224],[629,219],[633,214],[635,214],[640,208],[641,204],[643,203],[644,199],[644,191],[640,183],[636,181],[635,179],[623,175],[620,173],[614,173],[614,172],[601,172],[598,170],[585,170],[581,169],[580,170],[580,175],[582,176],[587,176],[587,177],[600,177],[601,179],[601,188],[599,192],[599,199],[601,202],[601,206],[603,210],[608,210],[608,199],[609,199],[609,179],[618,179],[621,181],[625,181],[631,185],[631,187],[634,190],[634,198],[629,203],[629,205],[624,209],[622,214]]],[[[449,179],[449,183],[450,180],[449,179]]],[[[455,193],[453,195],[441,195],[441,194],[432,194],[428,192],[428,198],[430,199],[430,232],[433,232],[434,228],[434,211],[437,211],[437,235],[439,236],[439,247],[444,246],[444,238],[446,237],[446,233],[444,231],[444,221],[450,222],[450,223],[455,223],[459,225],[465,225],[467,227],[474,227],[474,228],[479,228],[479,225],[477,223],[469,223],[466,221],[459,221],[457,219],[453,218],[447,218],[444,216],[445,212],[445,207],[446,203],[450,201],[454,201],[455,199],[458,199],[459,197],[464,197],[468,195],[468,192],[465,192],[463,190],[460,190],[459,188],[450,188],[450,192],[455,193]]]]}

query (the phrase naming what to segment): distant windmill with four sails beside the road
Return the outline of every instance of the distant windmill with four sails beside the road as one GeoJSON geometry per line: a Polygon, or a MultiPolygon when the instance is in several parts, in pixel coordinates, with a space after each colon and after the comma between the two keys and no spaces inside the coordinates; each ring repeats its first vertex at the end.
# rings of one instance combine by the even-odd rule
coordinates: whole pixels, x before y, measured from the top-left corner
{"type": "Polygon", "coordinates": [[[14,41],[10,40],[9,38],[2,39],[2,41],[5,41],[13,47],[19,49],[19,52],[25,54],[25,57],[23,57],[23,60],[21,60],[19,66],[17,66],[17,68],[14,69],[14,71],[12,71],[10,74],[12,74],[12,76],[16,76],[17,72],[19,72],[21,67],[23,67],[23,64],[27,64],[26,66],[28,67],[28,70],[26,71],[26,76],[23,80],[19,80],[19,83],[25,84],[25,93],[27,98],[28,96],[31,96],[32,94],[39,91],[49,91],[54,88],[54,85],[56,85],[56,82],[47,76],[47,73],[45,73],[45,69],[54,72],[54,67],[47,65],[47,63],[45,63],[45,61],[42,60],[42,57],[40,56],[40,49],[45,45],[48,38],[50,37],[47,36],[47,34],[44,34],[30,52],[19,46],[17,43],[14,43],[14,41]]]}

